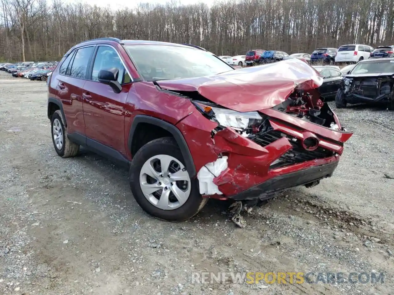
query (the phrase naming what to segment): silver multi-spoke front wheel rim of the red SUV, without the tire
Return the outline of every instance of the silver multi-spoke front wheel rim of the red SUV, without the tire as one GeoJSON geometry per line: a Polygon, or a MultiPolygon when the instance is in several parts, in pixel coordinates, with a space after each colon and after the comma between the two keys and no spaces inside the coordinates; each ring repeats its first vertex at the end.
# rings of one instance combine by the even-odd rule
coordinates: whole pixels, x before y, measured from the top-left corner
{"type": "Polygon", "coordinates": [[[156,155],[148,159],[139,173],[139,185],[145,198],[162,210],[174,210],[189,198],[191,181],[188,171],[176,158],[156,155]]]}

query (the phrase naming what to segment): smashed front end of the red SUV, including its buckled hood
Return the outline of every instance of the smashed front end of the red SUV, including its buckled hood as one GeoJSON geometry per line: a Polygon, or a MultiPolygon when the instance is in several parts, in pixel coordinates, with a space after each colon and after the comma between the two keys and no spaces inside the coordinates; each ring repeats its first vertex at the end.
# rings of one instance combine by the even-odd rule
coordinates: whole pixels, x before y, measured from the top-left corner
{"type": "Polygon", "coordinates": [[[322,78],[309,65],[292,59],[254,68],[260,69],[158,82],[198,110],[177,127],[199,171],[202,195],[257,203],[295,186],[314,186],[332,175],[352,135],[320,99],[322,78]],[[278,67],[286,73],[282,79],[278,67]]]}

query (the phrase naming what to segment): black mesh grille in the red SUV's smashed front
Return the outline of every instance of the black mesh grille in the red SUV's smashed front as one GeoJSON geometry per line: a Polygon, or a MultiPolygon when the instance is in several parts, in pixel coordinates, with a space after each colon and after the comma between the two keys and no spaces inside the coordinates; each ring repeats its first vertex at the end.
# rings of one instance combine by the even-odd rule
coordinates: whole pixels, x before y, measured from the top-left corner
{"type": "Polygon", "coordinates": [[[291,136],[276,130],[271,130],[262,135],[258,135],[253,139],[253,141],[260,144],[260,146],[267,146],[282,137],[287,137],[293,148],[284,153],[284,155],[274,162],[275,167],[288,166],[310,160],[327,158],[334,155],[333,151],[323,149],[322,147],[318,147],[314,151],[307,151],[302,147],[299,139],[291,138],[291,136]]]}

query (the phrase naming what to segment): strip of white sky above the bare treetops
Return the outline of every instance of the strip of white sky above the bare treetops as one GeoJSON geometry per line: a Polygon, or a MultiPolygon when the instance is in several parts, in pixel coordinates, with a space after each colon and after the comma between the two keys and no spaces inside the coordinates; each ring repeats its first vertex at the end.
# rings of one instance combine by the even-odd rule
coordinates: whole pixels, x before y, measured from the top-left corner
{"type": "MultiPolygon", "coordinates": [[[[188,5],[188,4],[196,4],[196,3],[205,3],[208,6],[211,6],[214,2],[222,2],[224,0],[173,0],[173,2],[188,5]]],[[[101,7],[110,6],[112,9],[116,10],[122,7],[133,8],[138,3],[151,3],[151,4],[166,4],[167,2],[171,2],[171,0],[63,0],[64,3],[75,3],[75,2],[84,2],[90,5],[97,5],[101,7]]]]}

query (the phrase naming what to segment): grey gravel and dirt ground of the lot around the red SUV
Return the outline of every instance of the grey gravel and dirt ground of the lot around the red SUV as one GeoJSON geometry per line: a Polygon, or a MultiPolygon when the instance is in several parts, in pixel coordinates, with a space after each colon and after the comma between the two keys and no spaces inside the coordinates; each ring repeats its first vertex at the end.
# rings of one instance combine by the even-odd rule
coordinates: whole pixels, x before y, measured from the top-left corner
{"type": "Polygon", "coordinates": [[[124,168],[86,150],[58,157],[45,83],[0,72],[0,294],[394,294],[384,176],[394,176],[394,113],[336,112],[355,133],[330,179],[244,214],[244,229],[215,200],[169,223],[139,208],[124,168]],[[194,284],[192,271],[384,272],[384,282],[194,284]]]}

